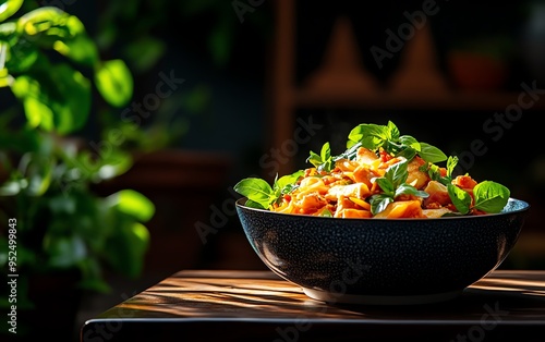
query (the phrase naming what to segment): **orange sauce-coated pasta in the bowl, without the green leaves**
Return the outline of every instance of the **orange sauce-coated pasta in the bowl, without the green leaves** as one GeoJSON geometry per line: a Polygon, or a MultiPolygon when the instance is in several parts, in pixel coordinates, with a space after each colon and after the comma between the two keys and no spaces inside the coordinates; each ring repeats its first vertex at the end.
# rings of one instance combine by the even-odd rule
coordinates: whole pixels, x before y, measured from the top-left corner
{"type": "MultiPolygon", "coordinates": [[[[416,156],[408,163],[407,183],[426,192],[428,196],[423,198],[400,195],[388,204],[385,210],[372,213],[368,199],[383,192],[375,182],[376,178],[384,176],[389,167],[404,160],[400,157],[379,157],[372,150],[360,147],[354,160],[339,159],[329,172],[318,171],[317,168],[305,169],[296,182],[296,187],[283,195],[270,210],[335,218],[388,219],[437,218],[456,212],[447,186],[433,181],[428,173],[421,169],[426,162],[416,156]]],[[[439,170],[446,172],[445,168],[439,170]]],[[[457,176],[452,183],[470,193],[476,185],[469,175],[457,176]]]]}

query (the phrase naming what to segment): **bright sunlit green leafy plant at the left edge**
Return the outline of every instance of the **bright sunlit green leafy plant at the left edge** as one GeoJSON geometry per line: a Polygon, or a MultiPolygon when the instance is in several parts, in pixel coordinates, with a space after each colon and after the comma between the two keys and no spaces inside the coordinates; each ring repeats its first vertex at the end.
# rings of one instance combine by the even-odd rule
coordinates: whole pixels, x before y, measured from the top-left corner
{"type": "MultiPolygon", "coordinates": [[[[0,265],[12,279],[0,303],[15,313],[2,321],[2,333],[55,332],[60,341],[59,323],[75,318],[75,312],[56,310],[62,298],[108,291],[108,271],[137,277],[148,248],[145,224],[154,204],[132,188],[105,196],[92,190],[126,172],[132,155],[116,146],[97,152],[86,144],[96,129],[94,106],[125,106],[132,75],[122,60],[99,57],[76,16],[7,0],[0,7],[0,88],[7,98],[0,112],[0,265]],[[39,314],[43,308],[47,314],[39,314]]],[[[76,298],[66,304],[77,307],[76,298]]]]}

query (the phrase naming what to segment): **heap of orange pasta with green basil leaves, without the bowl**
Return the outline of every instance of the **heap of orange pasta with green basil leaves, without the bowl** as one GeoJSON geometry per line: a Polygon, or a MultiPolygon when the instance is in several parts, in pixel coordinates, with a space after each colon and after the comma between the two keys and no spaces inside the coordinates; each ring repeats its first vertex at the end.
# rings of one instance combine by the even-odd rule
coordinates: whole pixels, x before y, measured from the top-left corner
{"type": "Polygon", "coordinates": [[[246,206],[283,213],[334,218],[439,218],[496,213],[510,191],[494,181],[455,175],[458,158],[401,135],[387,125],[360,124],[347,150],[332,156],[329,143],[307,159],[313,167],[277,178],[272,186],[249,178],[234,190],[246,206]],[[446,162],[439,167],[439,162],[446,162]]]}

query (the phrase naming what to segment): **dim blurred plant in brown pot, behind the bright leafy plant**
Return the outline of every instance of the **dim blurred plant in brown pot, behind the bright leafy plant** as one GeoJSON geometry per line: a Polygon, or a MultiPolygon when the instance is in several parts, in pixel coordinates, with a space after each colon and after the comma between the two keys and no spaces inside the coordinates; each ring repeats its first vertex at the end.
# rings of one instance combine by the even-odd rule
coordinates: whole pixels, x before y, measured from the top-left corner
{"type": "Polygon", "coordinates": [[[156,204],[154,220],[147,225],[150,244],[143,277],[148,283],[181,268],[202,267],[205,254],[211,254],[213,244],[205,246],[195,224],[209,224],[210,207],[227,195],[227,176],[233,167],[225,146],[209,143],[218,139],[215,129],[223,122],[215,109],[216,86],[195,76],[195,65],[186,61],[194,51],[177,40],[178,30],[169,24],[173,17],[178,30],[192,26],[192,19],[206,26],[192,41],[208,41],[210,50],[205,56],[210,56],[210,65],[214,61],[213,66],[225,66],[239,23],[232,7],[222,1],[112,0],[101,5],[95,27],[99,49],[116,51],[133,70],[135,84],[141,85],[135,88],[134,105],[141,110],[132,110],[123,118],[102,111],[100,120],[105,125],[122,131],[119,147],[132,152],[134,163],[128,172],[94,188],[107,194],[132,187],[156,204]],[[210,32],[204,21],[195,19],[203,15],[218,15],[217,26],[210,32]],[[165,83],[166,77],[170,83],[165,83]],[[134,130],[134,125],[138,129],[134,130]],[[203,136],[211,147],[198,143],[203,136]]]}

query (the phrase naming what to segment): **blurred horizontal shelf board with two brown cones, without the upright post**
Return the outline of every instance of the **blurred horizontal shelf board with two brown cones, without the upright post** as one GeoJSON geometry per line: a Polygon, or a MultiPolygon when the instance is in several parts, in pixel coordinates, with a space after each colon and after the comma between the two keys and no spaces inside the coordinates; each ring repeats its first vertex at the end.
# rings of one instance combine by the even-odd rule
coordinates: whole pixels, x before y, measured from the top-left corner
{"type": "MultiPolygon", "coordinates": [[[[365,65],[358,49],[350,21],[340,16],[331,33],[322,65],[301,85],[283,88],[291,93],[292,107],[346,107],[363,109],[504,110],[519,105],[519,93],[497,89],[459,90],[438,68],[432,32],[423,27],[400,52],[401,63],[380,84],[365,65]]],[[[531,88],[528,85],[526,88],[531,88]]],[[[535,95],[533,95],[535,97],[535,95]]],[[[522,107],[541,106],[538,98],[524,95],[522,107]],[[528,105],[526,105],[528,103],[528,105]]]]}

